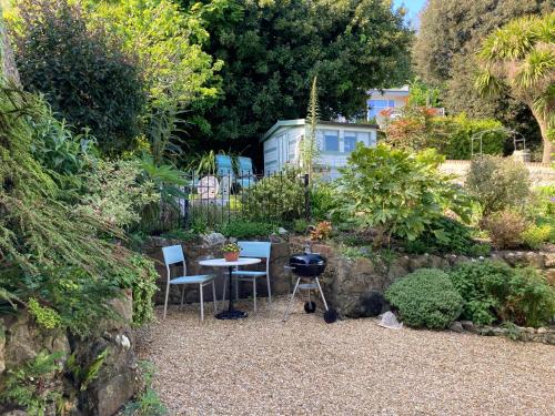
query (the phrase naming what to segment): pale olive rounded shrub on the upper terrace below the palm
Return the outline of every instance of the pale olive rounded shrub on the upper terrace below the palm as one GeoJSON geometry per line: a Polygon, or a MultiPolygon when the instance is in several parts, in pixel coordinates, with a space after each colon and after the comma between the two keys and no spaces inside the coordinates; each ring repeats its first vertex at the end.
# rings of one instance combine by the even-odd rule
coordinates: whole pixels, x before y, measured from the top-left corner
{"type": "Polygon", "coordinates": [[[484,155],[472,161],[465,187],[482,205],[482,214],[488,216],[526,204],[529,173],[521,162],[484,155]]]}

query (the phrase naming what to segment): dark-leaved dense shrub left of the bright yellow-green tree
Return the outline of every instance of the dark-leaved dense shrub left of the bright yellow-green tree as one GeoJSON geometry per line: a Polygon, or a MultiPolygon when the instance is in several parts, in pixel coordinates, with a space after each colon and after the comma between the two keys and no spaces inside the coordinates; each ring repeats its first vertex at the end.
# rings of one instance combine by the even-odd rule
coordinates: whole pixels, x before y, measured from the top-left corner
{"type": "Polygon", "coordinates": [[[134,57],[68,0],[18,0],[11,27],[24,88],[75,129],[90,129],[103,151],[130,149],[145,101],[134,57]]]}

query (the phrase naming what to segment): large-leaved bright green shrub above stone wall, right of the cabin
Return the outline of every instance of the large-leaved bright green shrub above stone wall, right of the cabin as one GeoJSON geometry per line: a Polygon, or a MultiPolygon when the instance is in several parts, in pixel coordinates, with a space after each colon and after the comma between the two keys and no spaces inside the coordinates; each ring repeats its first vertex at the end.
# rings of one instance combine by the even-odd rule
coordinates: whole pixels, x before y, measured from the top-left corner
{"type": "Polygon", "coordinates": [[[442,160],[433,150],[357,146],[339,179],[341,210],[387,240],[415,240],[447,207],[466,219],[470,201],[437,171],[442,160]]]}

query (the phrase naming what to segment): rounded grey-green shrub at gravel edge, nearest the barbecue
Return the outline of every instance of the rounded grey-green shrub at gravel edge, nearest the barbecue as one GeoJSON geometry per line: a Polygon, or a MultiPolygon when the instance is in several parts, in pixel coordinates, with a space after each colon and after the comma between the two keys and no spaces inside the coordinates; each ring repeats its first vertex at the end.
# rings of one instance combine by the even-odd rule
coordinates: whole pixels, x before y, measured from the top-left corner
{"type": "Polygon", "coordinates": [[[445,328],[458,317],[463,298],[448,276],[436,268],[421,268],[396,281],[385,298],[410,326],[445,328]]]}

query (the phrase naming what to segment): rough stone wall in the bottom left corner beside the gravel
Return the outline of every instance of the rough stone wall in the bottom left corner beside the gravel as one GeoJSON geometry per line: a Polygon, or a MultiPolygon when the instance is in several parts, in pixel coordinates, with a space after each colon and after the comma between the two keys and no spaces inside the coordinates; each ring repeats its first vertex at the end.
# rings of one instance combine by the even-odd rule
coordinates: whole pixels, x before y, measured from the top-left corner
{"type": "MultiPolygon", "coordinates": [[[[87,339],[71,337],[60,329],[38,327],[27,312],[0,317],[0,386],[9,371],[16,369],[32,361],[40,352],[63,353],[65,363],[70,355],[77,365],[87,371],[97,357],[104,351],[108,355],[95,377],[81,389],[78,382],[68,377],[65,371],[48,386],[42,386],[43,394],[49,390],[60,390],[64,394],[64,414],[112,416],[138,390],[140,385],[137,358],[134,354],[134,337],[130,327],[133,305],[130,292],[124,292],[121,298],[112,301],[114,311],[123,317],[118,321],[100,323],[99,336],[87,339]]],[[[1,387],[0,387],[1,388],[1,387]]],[[[11,404],[0,405],[0,415],[27,415],[11,404]]],[[[46,415],[59,414],[54,405],[46,409],[46,415]]]]}

